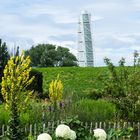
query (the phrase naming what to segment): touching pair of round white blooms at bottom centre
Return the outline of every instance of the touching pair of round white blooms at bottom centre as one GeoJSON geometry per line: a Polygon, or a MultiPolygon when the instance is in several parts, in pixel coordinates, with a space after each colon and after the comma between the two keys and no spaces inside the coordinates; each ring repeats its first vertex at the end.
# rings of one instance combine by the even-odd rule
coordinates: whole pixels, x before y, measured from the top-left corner
{"type": "Polygon", "coordinates": [[[76,139],[75,131],[71,130],[69,128],[69,126],[67,126],[65,124],[60,124],[57,126],[55,135],[56,135],[56,137],[61,137],[64,139],[70,139],[70,140],[76,139]]]}

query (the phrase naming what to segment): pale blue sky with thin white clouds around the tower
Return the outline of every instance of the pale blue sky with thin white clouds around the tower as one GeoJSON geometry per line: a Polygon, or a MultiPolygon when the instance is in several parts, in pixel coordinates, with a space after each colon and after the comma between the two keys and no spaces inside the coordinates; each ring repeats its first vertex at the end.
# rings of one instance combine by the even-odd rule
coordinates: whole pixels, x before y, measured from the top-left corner
{"type": "Polygon", "coordinates": [[[67,47],[77,56],[78,19],[91,13],[95,66],[117,65],[140,52],[140,0],[0,0],[0,38],[12,50],[38,43],[67,47]]]}

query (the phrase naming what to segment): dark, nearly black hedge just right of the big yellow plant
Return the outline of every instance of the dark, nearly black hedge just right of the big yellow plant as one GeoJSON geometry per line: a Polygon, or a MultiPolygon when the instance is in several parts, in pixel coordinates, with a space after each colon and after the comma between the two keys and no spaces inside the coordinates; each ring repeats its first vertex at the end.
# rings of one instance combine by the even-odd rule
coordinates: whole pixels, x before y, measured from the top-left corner
{"type": "Polygon", "coordinates": [[[41,97],[42,93],[43,93],[43,88],[42,88],[43,75],[42,75],[42,72],[39,72],[35,69],[32,69],[30,72],[30,77],[32,77],[32,76],[35,76],[35,79],[30,84],[30,86],[28,86],[28,89],[34,90],[35,92],[37,92],[37,95],[39,97],[41,97]]]}

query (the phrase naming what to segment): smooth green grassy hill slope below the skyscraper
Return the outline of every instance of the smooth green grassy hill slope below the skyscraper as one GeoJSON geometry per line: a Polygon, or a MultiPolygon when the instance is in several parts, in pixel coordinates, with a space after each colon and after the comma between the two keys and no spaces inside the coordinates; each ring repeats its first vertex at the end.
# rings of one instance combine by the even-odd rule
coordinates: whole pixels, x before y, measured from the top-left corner
{"type": "Polygon", "coordinates": [[[101,87],[97,80],[100,74],[107,72],[107,67],[61,67],[61,68],[37,68],[43,73],[43,90],[48,90],[49,83],[60,75],[65,92],[83,95],[94,88],[101,87]]]}

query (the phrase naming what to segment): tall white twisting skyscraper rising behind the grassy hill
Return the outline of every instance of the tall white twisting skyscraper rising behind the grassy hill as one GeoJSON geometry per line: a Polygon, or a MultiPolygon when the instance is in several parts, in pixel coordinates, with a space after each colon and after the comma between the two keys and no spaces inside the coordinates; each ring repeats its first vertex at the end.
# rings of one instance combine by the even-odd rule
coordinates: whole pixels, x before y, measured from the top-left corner
{"type": "Polygon", "coordinates": [[[79,19],[78,63],[80,67],[94,66],[91,34],[91,15],[84,11],[79,19]]]}

